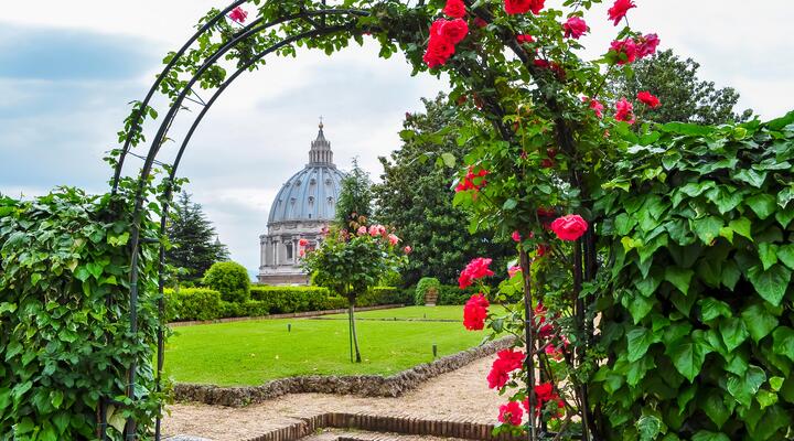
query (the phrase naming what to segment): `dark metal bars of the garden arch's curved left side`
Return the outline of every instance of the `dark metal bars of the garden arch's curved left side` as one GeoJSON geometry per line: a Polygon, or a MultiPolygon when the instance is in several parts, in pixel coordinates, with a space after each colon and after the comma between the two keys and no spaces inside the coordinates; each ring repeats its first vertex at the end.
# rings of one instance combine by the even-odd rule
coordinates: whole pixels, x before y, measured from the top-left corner
{"type": "MultiPolygon", "coordinates": [[[[236,32],[233,39],[227,41],[225,44],[223,44],[221,47],[218,47],[211,56],[208,56],[204,63],[201,65],[201,67],[193,74],[192,78],[187,80],[182,87],[179,93],[179,95],[175,97],[175,99],[171,100],[170,107],[168,109],[168,112],[165,114],[164,118],[159,125],[159,128],[157,130],[157,135],[153,139],[151,139],[149,150],[147,151],[146,155],[139,155],[132,152],[133,147],[133,138],[139,136],[142,132],[142,123],[144,119],[144,112],[148,109],[149,104],[152,101],[152,98],[154,97],[158,89],[161,88],[163,79],[171,73],[176,66],[178,62],[180,61],[180,57],[185,56],[185,53],[191,49],[192,45],[194,45],[203,35],[206,35],[211,29],[216,25],[222,20],[226,20],[227,14],[234,10],[235,8],[239,7],[240,4],[244,4],[248,2],[248,0],[236,0],[229,6],[227,6],[224,10],[219,11],[213,19],[208,20],[198,31],[191,36],[187,42],[176,52],[171,61],[165,65],[163,71],[158,75],[155,82],[149,89],[149,93],[147,94],[143,101],[140,104],[140,108],[133,115],[131,125],[128,127],[126,135],[127,139],[125,141],[124,147],[121,148],[121,151],[118,155],[118,162],[115,166],[114,178],[112,178],[112,194],[116,194],[119,191],[119,184],[122,179],[122,172],[125,163],[127,162],[126,159],[128,157],[135,157],[138,159],[143,160],[143,165],[140,169],[140,172],[138,174],[138,185],[137,185],[137,192],[136,192],[136,198],[135,198],[135,208],[132,213],[132,229],[130,232],[130,249],[131,252],[131,262],[130,262],[130,332],[136,333],[138,331],[138,294],[139,294],[139,288],[138,288],[138,259],[139,257],[139,248],[142,241],[151,240],[149,238],[141,237],[141,230],[140,230],[140,222],[142,219],[142,215],[146,211],[144,203],[147,198],[146,194],[146,186],[147,182],[150,179],[152,174],[152,169],[155,164],[164,165],[160,161],[158,161],[158,154],[160,152],[160,149],[162,144],[165,142],[167,137],[169,135],[169,130],[171,129],[171,126],[176,118],[178,114],[180,114],[180,110],[185,109],[185,100],[189,100],[197,106],[201,107],[201,110],[198,112],[190,112],[190,115],[193,116],[193,122],[190,125],[190,129],[184,135],[182,142],[180,143],[179,150],[176,152],[175,159],[168,168],[169,174],[167,178],[167,186],[164,191],[164,197],[161,200],[161,209],[162,215],[160,219],[160,233],[163,234],[165,230],[167,219],[168,219],[168,213],[169,213],[169,204],[172,198],[173,193],[173,185],[176,178],[176,171],[179,169],[179,164],[182,160],[182,155],[184,154],[184,151],[186,150],[191,138],[193,137],[193,133],[195,132],[198,125],[202,122],[204,116],[207,114],[210,108],[212,108],[213,104],[217,100],[217,98],[226,90],[226,88],[232,85],[232,83],[235,82],[244,72],[253,67],[257,62],[265,58],[267,55],[270,55],[280,49],[283,49],[288,45],[291,45],[293,43],[297,43],[301,40],[305,39],[312,39],[312,37],[319,37],[319,36],[326,36],[331,34],[339,34],[339,33],[363,33],[364,30],[357,28],[357,19],[362,17],[368,17],[369,12],[362,11],[362,10],[353,10],[353,9],[341,9],[341,8],[330,8],[325,7],[325,1],[322,1],[322,9],[316,10],[308,10],[303,9],[299,13],[292,13],[292,14],[286,14],[281,18],[278,18],[276,20],[265,22],[261,18],[257,18],[256,20],[253,20],[247,25],[239,29],[239,31],[236,32]],[[335,20],[336,23],[334,24],[328,24],[329,18],[336,18],[339,20],[335,20]],[[257,34],[261,34],[265,32],[268,32],[270,30],[273,30],[275,26],[278,26],[280,24],[286,24],[290,22],[303,22],[309,25],[309,30],[305,30],[303,32],[297,33],[294,35],[286,35],[280,41],[270,44],[269,46],[265,47],[260,52],[254,54],[249,60],[245,61],[245,63],[240,64],[236,72],[234,72],[232,75],[228,76],[218,87],[216,87],[214,94],[212,97],[207,100],[201,99],[198,95],[193,89],[193,86],[196,85],[197,82],[201,80],[202,75],[207,73],[208,69],[211,69],[213,66],[221,61],[225,54],[227,54],[229,51],[235,49],[238,44],[246,42],[248,39],[255,37],[257,34]]],[[[182,112],[186,114],[186,112],[182,112]]],[[[163,292],[164,288],[164,255],[165,249],[164,247],[160,246],[160,261],[159,261],[159,290],[160,294],[163,292]]],[[[164,304],[163,300],[159,301],[158,304],[159,314],[162,316],[164,312],[164,304]]],[[[163,329],[162,325],[158,330],[158,352],[157,352],[157,387],[158,389],[161,386],[161,377],[162,377],[162,368],[163,368],[163,329]]],[[[126,387],[126,396],[128,399],[135,401],[138,397],[136,397],[135,391],[135,385],[136,385],[136,377],[138,373],[138,366],[133,363],[130,366],[128,366],[127,370],[127,387],[126,387]]],[[[107,439],[107,428],[108,428],[108,421],[107,421],[107,410],[109,405],[116,405],[121,406],[116,400],[112,400],[110,398],[103,399],[103,402],[100,404],[99,409],[99,438],[105,440],[107,439]]],[[[160,440],[161,437],[161,428],[160,428],[160,417],[158,416],[157,422],[155,422],[155,429],[154,429],[154,439],[160,440]]],[[[129,418],[127,420],[127,423],[125,426],[124,430],[124,437],[126,440],[131,441],[137,439],[137,421],[135,419],[129,418]]]]}

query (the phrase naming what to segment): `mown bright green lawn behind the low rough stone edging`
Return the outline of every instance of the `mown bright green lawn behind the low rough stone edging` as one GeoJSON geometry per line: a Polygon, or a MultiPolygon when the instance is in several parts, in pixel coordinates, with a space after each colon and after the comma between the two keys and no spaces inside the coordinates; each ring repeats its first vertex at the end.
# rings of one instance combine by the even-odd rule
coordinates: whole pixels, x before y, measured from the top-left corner
{"type": "MultiPolygon", "coordinates": [[[[362,312],[395,316],[461,318],[461,306],[362,312]],[[423,312],[427,310],[427,312],[423,312]],[[389,315],[390,314],[390,315],[389,315]],[[406,315],[408,314],[408,315],[406,315]]],[[[460,323],[356,322],[361,364],[350,363],[345,320],[262,320],[175,327],[165,351],[165,374],[175,381],[259,385],[310,374],[394,374],[476,346],[483,332],[460,323]],[[287,332],[287,324],[292,332],[287,332]]]]}

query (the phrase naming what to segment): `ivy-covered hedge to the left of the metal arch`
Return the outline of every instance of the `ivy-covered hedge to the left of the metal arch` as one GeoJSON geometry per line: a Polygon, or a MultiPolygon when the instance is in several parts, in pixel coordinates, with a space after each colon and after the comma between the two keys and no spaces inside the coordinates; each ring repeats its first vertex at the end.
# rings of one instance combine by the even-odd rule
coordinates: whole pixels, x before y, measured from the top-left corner
{"type": "MultiPolygon", "coordinates": [[[[109,409],[111,439],[128,415],[141,432],[158,401],[154,358],[158,244],[139,259],[139,332],[130,335],[131,211],[74,189],[33,202],[0,198],[0,438],[95,439],[100,397],[125,400],[127,368],[139,365],[138,399],[109,409]],[[108,308],[109,305],[109,308],[108,308]]],[[[144,218],[143,237],[158,237],[144,218]]]]}

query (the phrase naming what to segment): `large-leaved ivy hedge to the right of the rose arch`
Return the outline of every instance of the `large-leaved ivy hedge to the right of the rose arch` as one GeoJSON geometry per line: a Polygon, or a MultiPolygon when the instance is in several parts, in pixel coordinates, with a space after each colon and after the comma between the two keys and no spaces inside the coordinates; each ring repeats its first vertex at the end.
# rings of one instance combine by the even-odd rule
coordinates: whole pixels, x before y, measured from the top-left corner
{"type": "Polygon", "coordinates": [[[591,383],[604,433],[791,439],[794,112],[622,136],[597,202],[611,250],[597,290],[609,363],[591,383]]]}

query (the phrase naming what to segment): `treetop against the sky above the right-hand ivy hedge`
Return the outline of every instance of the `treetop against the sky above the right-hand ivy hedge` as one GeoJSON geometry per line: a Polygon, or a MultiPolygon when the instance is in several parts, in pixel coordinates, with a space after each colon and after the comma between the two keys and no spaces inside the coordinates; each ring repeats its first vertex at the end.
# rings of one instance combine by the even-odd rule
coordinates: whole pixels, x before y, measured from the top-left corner
{"type": "Polygon", "coordinates": [[[700,64],[693,58],[682,60],[672,50],[653,57],[639,60],[634,75],[618,76],[610,88],[615,97],[635,97],[648,90],[659,98],[662,106],[646,109],[645,119],[656,122],[697,122],[720,125],[743,122],[752,117],[752,109],[733,111],[739,93],[732,87],[716,88],[713,82],[698,78],[700,64]]]}

